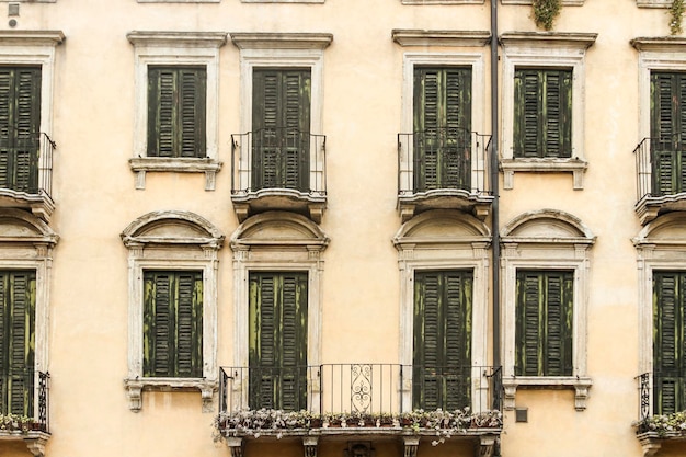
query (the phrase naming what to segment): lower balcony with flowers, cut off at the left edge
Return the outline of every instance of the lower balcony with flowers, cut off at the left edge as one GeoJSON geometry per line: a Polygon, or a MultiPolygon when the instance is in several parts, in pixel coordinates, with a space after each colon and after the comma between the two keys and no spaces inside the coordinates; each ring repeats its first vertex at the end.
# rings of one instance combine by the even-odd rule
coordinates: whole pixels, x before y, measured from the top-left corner
{"type": "Polygon", "coordinates": [[[0,454],[2,442],[23,441],[35,457],[45,455],[49,378],[41,372],[0,375],[0,454]]]}

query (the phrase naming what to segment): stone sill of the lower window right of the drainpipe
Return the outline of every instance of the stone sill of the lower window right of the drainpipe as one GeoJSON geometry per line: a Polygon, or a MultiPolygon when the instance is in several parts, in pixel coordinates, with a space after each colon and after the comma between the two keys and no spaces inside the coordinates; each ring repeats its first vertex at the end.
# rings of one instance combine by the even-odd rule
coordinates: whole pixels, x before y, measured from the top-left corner
{"type": "Polygon", "coordinates": [[[586,409],[588,399],[588,388],[592,386],[591,378],[574,376],[517,376],[503,379],[504,408],[515,409],[515,395],[517,388],[529,389],[574,389],[574,409],[583,411],[586,409]]]}

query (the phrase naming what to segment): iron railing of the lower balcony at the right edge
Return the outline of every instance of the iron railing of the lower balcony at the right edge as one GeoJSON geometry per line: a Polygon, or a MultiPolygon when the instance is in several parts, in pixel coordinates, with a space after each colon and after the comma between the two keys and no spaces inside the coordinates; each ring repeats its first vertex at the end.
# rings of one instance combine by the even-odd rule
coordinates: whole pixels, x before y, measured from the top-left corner
{"type": "Polygon", "coordinates": [[[637,376],[639,427],[656,414],[686,410],[686,372],[654,372],[637,376]]]}

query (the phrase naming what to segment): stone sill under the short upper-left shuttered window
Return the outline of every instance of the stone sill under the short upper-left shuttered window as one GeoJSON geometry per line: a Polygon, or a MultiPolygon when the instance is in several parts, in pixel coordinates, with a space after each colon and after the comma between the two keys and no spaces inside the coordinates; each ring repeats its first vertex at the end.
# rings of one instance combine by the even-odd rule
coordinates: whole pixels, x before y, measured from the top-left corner
{"type": "Polygon", "coordinates": [[[136,188],[146,188],[147,172],[205,173],[205,191],[214,191],[216,175],[221,162],[215,159],[178,159],[160,157],[138,157],[129,159],[132,171],[136,173],[136,188]]]}

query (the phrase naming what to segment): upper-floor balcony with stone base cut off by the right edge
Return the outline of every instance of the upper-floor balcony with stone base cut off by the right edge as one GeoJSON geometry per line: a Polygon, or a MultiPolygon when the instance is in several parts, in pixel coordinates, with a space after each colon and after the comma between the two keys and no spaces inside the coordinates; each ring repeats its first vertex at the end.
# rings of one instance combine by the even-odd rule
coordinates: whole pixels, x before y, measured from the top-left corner
{"type": "Polygon", "coordinates": [[[686,144],[644,138],[633,153],[641,225],[663,213],[686,210],[686,144]]]}

